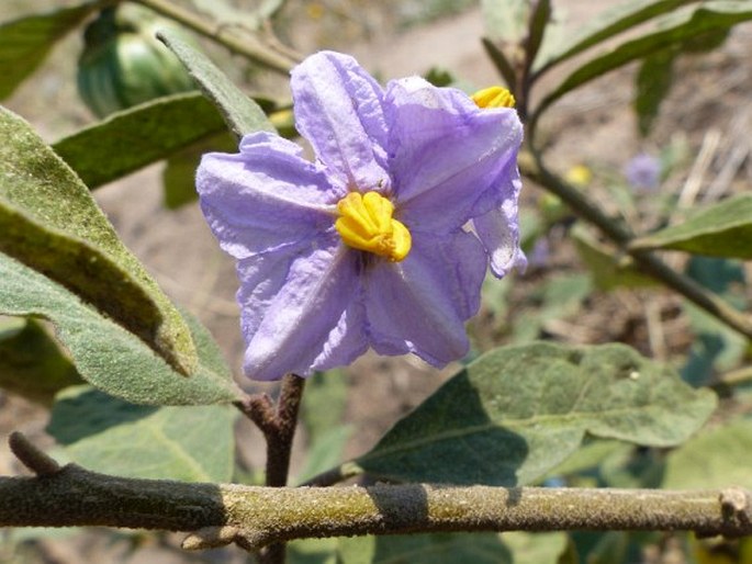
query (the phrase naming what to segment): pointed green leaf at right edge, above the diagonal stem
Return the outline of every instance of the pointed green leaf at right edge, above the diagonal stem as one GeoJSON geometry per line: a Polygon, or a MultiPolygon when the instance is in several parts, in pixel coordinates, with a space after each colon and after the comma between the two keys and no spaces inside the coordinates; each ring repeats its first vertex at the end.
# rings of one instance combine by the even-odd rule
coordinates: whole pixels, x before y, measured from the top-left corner
{"type": "Polygon", "coordinates": [[[632,250],[684,250],[710,257],[752,259],[752,194],[739,194],[702,210],[684,223],[640,237],[632,250]]]}

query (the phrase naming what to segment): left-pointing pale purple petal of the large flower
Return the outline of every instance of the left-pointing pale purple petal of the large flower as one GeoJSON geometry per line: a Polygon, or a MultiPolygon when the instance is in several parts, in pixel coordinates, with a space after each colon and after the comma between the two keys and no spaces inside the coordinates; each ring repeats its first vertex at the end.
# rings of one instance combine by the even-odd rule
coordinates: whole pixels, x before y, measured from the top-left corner
{"type": "Polygon", "coordinates": [[[301,148],[266,132],[240,153],[204,155],[197,171],[201,210],[222,248],[243,259],[334,228],[344,195],[301,148]]]}

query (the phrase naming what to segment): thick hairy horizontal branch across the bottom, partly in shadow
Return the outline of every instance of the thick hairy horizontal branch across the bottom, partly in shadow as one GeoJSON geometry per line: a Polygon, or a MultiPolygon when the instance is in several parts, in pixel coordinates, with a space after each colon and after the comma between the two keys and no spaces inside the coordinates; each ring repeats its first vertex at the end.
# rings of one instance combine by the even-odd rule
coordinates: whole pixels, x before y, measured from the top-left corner
{"type": "Polygon", "coordinates": [[[0,478],[0,526],[190,531],[183,546],[246,550],[301,538],[438,531],[752,533],[752,493],[539,487],[291,488],[108,476],[69,464],[0,478]]]}

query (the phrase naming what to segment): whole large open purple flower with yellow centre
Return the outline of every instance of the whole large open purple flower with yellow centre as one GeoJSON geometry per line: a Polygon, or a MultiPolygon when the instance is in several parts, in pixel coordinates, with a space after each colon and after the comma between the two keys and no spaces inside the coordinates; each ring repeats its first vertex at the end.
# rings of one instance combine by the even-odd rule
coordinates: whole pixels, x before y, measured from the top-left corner
{"type": "Polygon", "coordinates": [[[369,347],[436,366],[462,357],[486,267],[525,264],[516,112],[417,77],[383,90],[330,52],[293,69],[292,93],[315,162],[261,132],[197,173],[237,259],[246,373],[307,376],[369,347]]]}

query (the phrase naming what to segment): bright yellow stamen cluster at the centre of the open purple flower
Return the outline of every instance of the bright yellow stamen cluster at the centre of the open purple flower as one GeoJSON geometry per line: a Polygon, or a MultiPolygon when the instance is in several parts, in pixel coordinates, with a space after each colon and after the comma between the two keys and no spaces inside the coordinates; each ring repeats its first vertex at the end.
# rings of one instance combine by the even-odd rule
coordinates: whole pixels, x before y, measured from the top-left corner
{"type": "Polygon", "coordinates": [[[337,202],[337,212],[334,226],[345,245],[392,262],[409,252],[413,239],[407,227],[392,218],[394,205],[378,192],[350,192],[337,202]]]}

